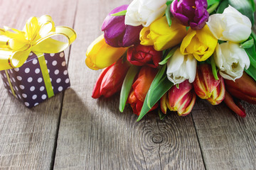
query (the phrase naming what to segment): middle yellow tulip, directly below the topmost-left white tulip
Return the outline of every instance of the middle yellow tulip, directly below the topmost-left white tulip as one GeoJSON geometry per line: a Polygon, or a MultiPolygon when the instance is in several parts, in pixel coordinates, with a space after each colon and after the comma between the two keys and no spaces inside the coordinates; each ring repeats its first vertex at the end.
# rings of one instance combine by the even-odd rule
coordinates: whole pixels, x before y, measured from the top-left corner
{"type": "Polygon", "coordinates": [[[155,50],[162,51],[180,44],[186,33],[186,27],[177,21],[172,21],[169,27],[166,17],[163,16],[149,27],[142,28],[139,38],[142,45],[154,45],[155,50]]]}

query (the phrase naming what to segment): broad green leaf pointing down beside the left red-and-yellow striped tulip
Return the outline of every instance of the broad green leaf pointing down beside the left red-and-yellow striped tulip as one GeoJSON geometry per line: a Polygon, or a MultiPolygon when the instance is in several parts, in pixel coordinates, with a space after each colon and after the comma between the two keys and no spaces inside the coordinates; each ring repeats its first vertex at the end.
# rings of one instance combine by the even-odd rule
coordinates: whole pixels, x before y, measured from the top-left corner
{"type": "Polygon", "coordinates": [[[166,74],[162,74],[163,70],[164,72],[166,71],[165,66],[166,65],[159,69],[158,74],[156,74],[156,77],[153,80],[154,84],[152,82],[151,86],[149,87],[149,91],[146,94],[146,98],[142,106],[142,111],[139,114],[137,121],[141,120],[144,115],[146,115],[146,113],[148,113],[150,109],[156,104],[156,102],[159,101],[160,98],[164,96],[167,91],[169,91],[169,89],[171,89],[171,86],[173,86],[171,81],[169,81],[169,79],[166,77],[166,74]]]}

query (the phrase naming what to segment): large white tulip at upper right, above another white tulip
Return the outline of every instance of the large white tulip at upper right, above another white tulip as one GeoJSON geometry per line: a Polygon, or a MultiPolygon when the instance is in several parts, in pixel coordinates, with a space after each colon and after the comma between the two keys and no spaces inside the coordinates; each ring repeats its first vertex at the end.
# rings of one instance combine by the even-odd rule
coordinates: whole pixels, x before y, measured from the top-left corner
{"type": "Polygon", "coordinates": [[[250,19],[232,6],[225,8],[221,14],[211,15],[206,24],[218,40],[243,42],[252,32],[250,19]]]}

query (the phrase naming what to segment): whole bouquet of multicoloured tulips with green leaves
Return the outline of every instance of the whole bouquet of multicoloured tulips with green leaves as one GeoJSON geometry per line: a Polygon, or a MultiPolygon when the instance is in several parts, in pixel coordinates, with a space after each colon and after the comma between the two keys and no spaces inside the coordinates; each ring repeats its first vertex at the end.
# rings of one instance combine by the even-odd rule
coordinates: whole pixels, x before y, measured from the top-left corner
{"type": "Polygon", "coordinates": [[[253,0],[134,0],[114,8],[88,47],[85,63],[103,69],[92,98],[120,92],[138,120],[159,108],[191,112],[196,96],[224,101],[245,117],[238,98],[256,103],[253,0]]]}

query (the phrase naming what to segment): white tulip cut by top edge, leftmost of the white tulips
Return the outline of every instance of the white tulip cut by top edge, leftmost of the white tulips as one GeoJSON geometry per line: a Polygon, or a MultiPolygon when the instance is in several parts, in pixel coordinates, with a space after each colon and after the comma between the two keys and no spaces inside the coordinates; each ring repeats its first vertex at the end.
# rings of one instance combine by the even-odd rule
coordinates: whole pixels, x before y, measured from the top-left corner
{"type": "Polygon", "coordinates": [[[166,0],[134,0],[127,8],[124,23],[148,27],[156,18],[164,15],[165,9],[166,0]]]}

